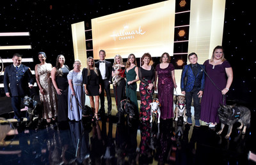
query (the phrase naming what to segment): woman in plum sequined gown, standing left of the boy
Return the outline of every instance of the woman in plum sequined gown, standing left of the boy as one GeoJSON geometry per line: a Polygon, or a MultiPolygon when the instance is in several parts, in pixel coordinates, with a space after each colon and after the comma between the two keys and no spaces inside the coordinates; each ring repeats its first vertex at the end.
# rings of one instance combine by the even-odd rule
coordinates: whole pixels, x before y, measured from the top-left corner
{"type": "Polygon", "coordinates": [[[173,117],[173,88],[177,88],[174,75],[174,66],[170,63],[171,58],[168,53],[163,53],[160,64],[156,66],[155,90],[158,90],[158,99],[161,104],[161,118],[164,120],[173,117]]]}

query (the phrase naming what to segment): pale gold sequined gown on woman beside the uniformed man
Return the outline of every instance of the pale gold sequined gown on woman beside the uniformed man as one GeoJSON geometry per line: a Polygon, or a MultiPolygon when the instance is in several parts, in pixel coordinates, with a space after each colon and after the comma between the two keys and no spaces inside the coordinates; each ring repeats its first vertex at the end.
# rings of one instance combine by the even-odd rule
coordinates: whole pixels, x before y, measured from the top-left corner
{"type": "Polygon", "coordinates": [[[57,97],[51,80],[51,64],[37,64],[39,80],[45,94],[40,93],[40,101],[43,106],[42,117],[44,119],[56,117],[57,115],[57,97]]]}

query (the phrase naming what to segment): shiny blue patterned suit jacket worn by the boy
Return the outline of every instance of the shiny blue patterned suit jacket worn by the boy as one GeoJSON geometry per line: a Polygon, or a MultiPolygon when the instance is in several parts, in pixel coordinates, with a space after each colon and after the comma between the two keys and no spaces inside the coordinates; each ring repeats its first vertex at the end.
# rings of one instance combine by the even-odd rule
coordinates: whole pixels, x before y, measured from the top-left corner
{"type": "Polygon", "coordinates": [[[196,69],[198,72],[196,76],[193,74],[191,64],[184,66],[184,68],[182,69],[180,80],[181,91],[191,92],[195,85],[200,87],[200,90],[204,91],[205,73],[200,66],[202,66],[202,68],[205,68],[204,65],[197,64],[196,69]],[[185,81],[185,79],[187,80],[185,81]]]}

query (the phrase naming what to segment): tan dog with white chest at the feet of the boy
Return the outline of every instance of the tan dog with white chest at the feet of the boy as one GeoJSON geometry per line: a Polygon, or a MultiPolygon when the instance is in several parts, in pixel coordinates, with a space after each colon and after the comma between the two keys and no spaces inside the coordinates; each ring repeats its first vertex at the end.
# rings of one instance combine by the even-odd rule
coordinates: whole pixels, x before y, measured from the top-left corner
{"type": "Polygon", "coordinates": [[[175,121],[178,121],[178,117],[183,117],[183,121],[186,120],[186,99],[185,96],[177,96],[177,104],[175,108],[175,121]]]}

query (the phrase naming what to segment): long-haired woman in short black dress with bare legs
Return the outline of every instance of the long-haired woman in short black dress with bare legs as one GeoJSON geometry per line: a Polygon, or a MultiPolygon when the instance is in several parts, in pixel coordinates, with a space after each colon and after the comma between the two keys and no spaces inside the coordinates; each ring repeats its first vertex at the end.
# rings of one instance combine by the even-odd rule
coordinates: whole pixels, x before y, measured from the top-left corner
{"type": "Polygon", "coordinates": [[[95,62],[93,57],[88,57],[87,59],[87,68],[83,69],[83,84],[84,92],[90,98],[90,104],[92,110],[95,112],[94,117],[96,120],[99,120],[98,111],[99,111],[99,98],[101,93],[101,83],[102,78],[100,76],[100,71],[98,68],[95,68],[95,62]],[[95,102],[94,102],[95,96],[95,102]]]}

